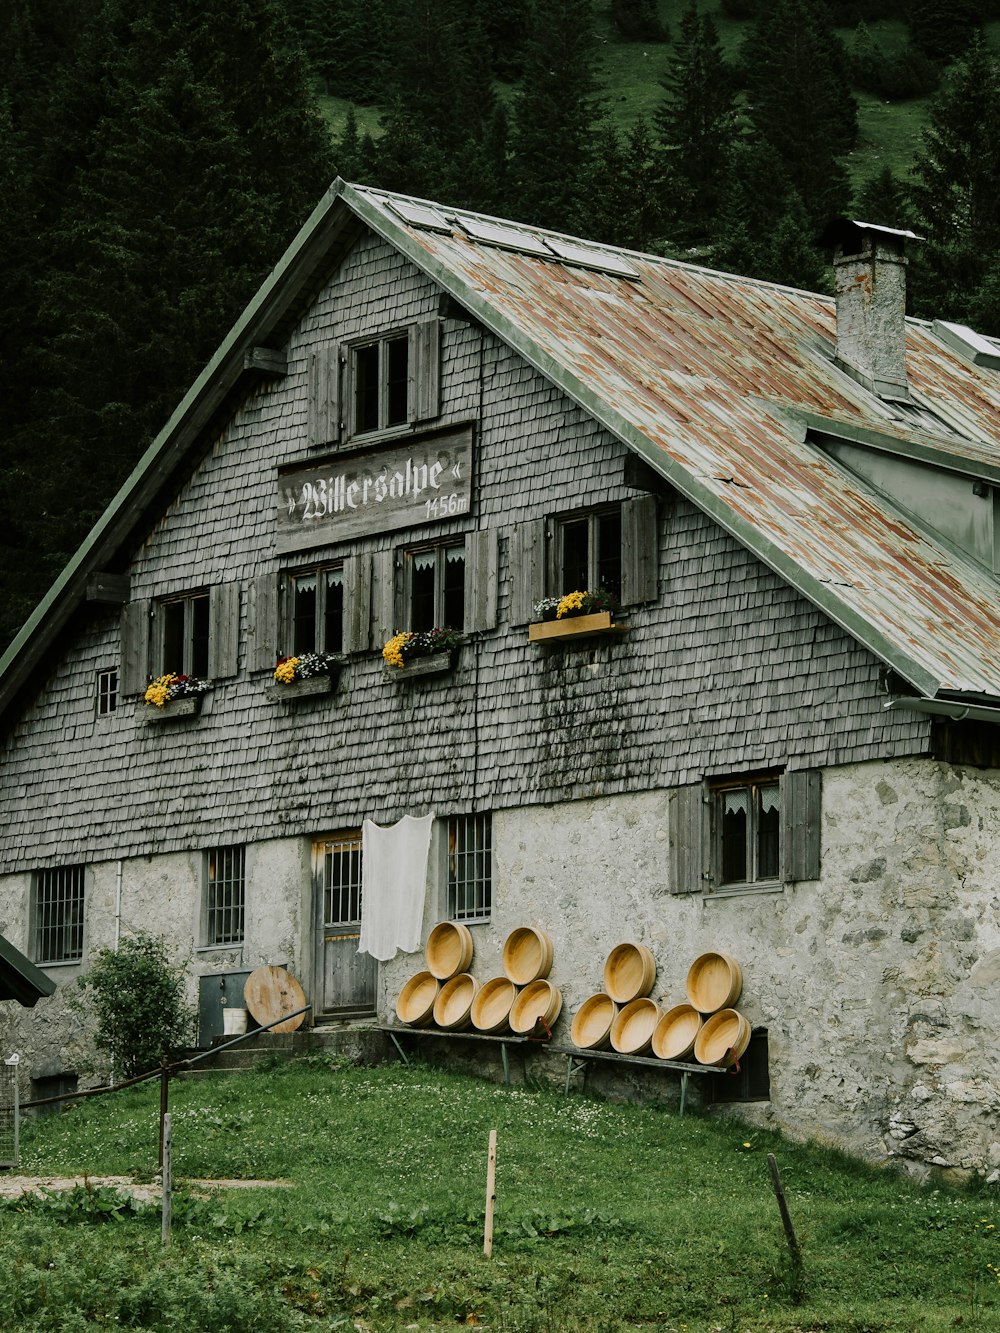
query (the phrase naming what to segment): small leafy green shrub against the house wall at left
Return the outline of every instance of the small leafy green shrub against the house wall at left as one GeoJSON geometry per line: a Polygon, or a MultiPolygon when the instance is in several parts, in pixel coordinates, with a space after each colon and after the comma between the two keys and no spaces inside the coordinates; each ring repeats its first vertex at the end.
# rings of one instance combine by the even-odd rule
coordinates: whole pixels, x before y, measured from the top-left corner
{"type": "Polygon", "coordinates": [[[187,1045],[193,1012],[184,998],[184,968],[171,964],[160,936],[139,930],[117,949],[100,949],[80,977],[83,1006],[96,1018],[93,1044],[125,1078],[155,1069],[187,1045]]]}

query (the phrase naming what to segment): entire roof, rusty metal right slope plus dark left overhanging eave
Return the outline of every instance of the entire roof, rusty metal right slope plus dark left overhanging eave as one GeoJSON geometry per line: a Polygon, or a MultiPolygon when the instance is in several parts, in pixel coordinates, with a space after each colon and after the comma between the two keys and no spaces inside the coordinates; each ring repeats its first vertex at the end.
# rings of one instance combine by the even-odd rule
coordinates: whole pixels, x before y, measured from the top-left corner
{"type": "MultiPolygon", "coordinates": [[[[335,181],[0,659],[0,714],[43,678],[95,571],[128,551],[367,225],[893,666],[1000,700],[997,579],[824,452],[816,433],[1000,485],[1000,379],[909,320],[928,431],[833,363],[833,300],[335,181]],[[488,239],[484,239],[488,237],[488,239]]],[[[968,331],[967,331],[968,332],[968,331]]],[[[961,339],[959,339],[961,344],[961,339]]]]}

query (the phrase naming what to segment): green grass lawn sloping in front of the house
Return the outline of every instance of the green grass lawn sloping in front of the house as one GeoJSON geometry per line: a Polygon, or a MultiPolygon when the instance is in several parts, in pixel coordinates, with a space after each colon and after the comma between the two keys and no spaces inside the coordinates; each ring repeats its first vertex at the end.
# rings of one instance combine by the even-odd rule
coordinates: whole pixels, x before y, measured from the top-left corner
{"type": "MultiPolygon", "coordinates": [[[[181,1181],[291,1188],[181,1189],[167,1250],[159,1208],[101,1189],[4,1205],[0,1328],[1000,1328],[995,1193],[920,1188],[736,1121],[319,1058],[175,1084],[171,1109],[181,1181]]],[[[25,1122],[21,1166],[148,1180],[156,1136],[144,1086],[25,1122]]]]}

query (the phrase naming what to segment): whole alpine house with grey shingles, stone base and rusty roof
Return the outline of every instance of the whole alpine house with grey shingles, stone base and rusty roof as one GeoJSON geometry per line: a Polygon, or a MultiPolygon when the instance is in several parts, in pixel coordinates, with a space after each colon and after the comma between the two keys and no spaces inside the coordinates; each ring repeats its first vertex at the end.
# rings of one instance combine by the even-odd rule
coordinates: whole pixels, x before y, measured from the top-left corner
{"type": "Polygon", "coordinates": [[[0,932],[60,984],[0,1044],[72,1072],[136,928],[388,1021],[361,828],[432,813],[423,936],[548,930],[563,1044],[617,942],[664,1004],[721,949],[747,1114],[996,1178],[1000,344],[832,239],[836,301],[336,183],[0,664],[0,932]]]}

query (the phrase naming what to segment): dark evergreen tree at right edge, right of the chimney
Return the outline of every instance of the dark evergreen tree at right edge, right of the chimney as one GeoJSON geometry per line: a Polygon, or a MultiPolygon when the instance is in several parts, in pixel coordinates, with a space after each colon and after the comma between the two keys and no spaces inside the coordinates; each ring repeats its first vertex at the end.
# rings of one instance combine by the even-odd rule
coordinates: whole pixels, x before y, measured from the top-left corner
{"type": "Polygon", "coordinates": [[[915,229],[927,243],[911,291],[916,313],[961,320],[975,309],[991,333],[1000,333],[989,297],[1000,260],[997,124],[1000,65],[976,40],[945,75],[913,165],[915,229]]]}

